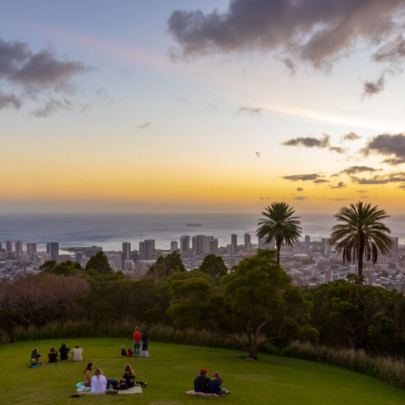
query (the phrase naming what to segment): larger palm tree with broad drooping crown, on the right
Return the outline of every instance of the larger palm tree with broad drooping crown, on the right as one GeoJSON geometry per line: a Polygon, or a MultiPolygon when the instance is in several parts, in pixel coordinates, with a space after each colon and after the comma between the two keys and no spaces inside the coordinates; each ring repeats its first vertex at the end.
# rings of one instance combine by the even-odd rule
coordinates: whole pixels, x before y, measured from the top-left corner
{"type": "Polygon", "coordinates": [[[381,222],[389,215],[378,206],[359,201],[350,207],[342,207],[334,217],[341,224],[332,228],[330,244],[336,244],[336,250],[343,251],[343,263],[357,260],[359,284],[362,284],[363,255],[366,255],[366,260],[372,258],[372,264],[375,264],[379,252],[384,255],[393,244],[388,235],[390,228],[381,222]]]}

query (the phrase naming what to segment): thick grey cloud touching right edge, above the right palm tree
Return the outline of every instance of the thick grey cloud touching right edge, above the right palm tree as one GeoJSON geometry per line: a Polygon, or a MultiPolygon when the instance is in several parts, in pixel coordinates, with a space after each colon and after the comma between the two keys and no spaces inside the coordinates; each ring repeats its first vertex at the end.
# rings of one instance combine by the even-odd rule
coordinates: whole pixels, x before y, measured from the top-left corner
{"type": "Polygon", "coordinates": [[[384,163],[388,163],[390,165],[405,163],[405,135],[377,135],[368,141],[361,152],[364,156],[368,156],[370,153],[392,156],[391,159],[386,159],[384,161],[384,163]]]}

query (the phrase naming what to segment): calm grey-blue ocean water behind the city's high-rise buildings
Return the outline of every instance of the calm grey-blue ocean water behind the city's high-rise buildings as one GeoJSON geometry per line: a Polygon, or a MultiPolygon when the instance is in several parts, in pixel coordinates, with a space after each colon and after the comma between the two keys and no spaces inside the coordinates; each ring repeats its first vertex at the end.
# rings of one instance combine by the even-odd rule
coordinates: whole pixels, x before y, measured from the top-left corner
{"type": "MultiPolygon", "coordinates": [[[[122,242],[131,242],[138,249],[138,242],[154,239],[156,249],[170,249],[170,241],[179,242],[181,235],[213,235],[219,246],[231,243],[231,233],[237,234],[237,243],[244,242],[244,233],[251,234],[257,243],[256,229],[260,214],[72,214],[72,215],[0,215],[0,242],[36,242],[39,251],[46,242],[59,242],[60,246],[102,246],[107,251],[119,251],[122,242]],[[187,226],[199,223],[201,226],[187,226]]],[[[303,236],[311,240],[329,237],[336,224],[332,215],[302,215],[303,236]]],[[[386,220],[392,236],[405,244],[405,215],[386,220]]]]}

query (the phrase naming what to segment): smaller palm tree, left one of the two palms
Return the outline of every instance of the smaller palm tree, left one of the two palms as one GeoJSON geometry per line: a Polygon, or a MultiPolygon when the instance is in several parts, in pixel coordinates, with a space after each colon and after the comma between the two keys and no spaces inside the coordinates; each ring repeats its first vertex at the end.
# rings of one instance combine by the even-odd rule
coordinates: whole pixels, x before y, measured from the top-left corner
{"type": "Polygon", "coordinates": [[[293,246],[301,235],[299,217],[293,217],[294,209],[285,201],[273,202],[262,211],[263,219],[259,219],[258,237],[264,237],[265,243],[276,241],[277,264],[280,264],[282,245],[293,246]]]}

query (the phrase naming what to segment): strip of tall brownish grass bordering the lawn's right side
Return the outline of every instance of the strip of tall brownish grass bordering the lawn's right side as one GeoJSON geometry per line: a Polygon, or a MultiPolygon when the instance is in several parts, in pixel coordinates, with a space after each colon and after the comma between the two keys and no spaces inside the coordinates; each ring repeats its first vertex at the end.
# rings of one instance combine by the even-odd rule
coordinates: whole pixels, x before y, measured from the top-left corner
{"type": "Polygon", "coordinates": [[[364,350],[334,349],[296,341],[282,350],[282,355],[332,364],[362,372],[398,388],[405,388],[405,361],[393,357],[372,357],[364,350]]]}

